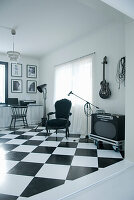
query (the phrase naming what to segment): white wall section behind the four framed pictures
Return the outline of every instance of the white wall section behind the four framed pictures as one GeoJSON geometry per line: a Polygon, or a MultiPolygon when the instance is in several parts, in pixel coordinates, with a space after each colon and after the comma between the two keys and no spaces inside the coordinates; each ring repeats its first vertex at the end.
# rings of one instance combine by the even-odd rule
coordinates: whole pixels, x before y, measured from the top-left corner
{"type": "MultiPolygon", "coordinates": [[[[8,62],[6,55],[0,55],[0,61],[8,62]]],[[[18,98],[19,100],[36,100],[39,103],[39,94],[27,93],[26,92],[26,82],[27,80],[36,80],[37,85],[39,82],[39,61],[38,59],[22,56],[20,62],[22,64],[22,77],[11,77],[11,63],[8,63],[8,97],[9,98],[18,98]],[[27,78],[26,76],[26,65],[36,65],[37,66],[37,78],[27,78]],[[22,93],[11,93],[11,79],[21,79],[22,80],[22,93]]]]}

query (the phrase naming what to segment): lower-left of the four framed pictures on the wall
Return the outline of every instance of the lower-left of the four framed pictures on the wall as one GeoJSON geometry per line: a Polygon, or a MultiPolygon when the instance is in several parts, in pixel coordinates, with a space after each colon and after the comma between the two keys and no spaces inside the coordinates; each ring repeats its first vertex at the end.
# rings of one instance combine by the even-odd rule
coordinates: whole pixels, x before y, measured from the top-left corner
{"type": "Polygon", "coordinates": [[[11,92],[21,93],[22,92],[22,80],[11,79],[11,92]]]}

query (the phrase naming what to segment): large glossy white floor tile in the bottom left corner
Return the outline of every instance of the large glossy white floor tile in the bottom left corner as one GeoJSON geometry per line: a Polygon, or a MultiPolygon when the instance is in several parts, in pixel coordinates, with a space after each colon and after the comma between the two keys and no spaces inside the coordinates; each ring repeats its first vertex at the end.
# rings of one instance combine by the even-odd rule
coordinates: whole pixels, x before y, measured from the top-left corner
{"type": "Polygon", "coordinates": [[[7,174],[0,179],[0,193],[19,196],[33,177],[7,174]]]}

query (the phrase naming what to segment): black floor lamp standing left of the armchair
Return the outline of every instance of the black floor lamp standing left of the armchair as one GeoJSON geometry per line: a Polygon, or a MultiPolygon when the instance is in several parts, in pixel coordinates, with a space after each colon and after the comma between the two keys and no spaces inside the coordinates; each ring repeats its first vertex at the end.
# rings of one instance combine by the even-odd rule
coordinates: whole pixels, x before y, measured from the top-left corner
{"type": "Polygon", "coordinates": [[[42,126],[46,125],[46,98],[47,98],[47,84],[39,85],[37,86],[37,90],[40,93],[43,93],[43,99],[44,99],[44,107],[43,107],[43,118],[42,118],[42,126]]]}

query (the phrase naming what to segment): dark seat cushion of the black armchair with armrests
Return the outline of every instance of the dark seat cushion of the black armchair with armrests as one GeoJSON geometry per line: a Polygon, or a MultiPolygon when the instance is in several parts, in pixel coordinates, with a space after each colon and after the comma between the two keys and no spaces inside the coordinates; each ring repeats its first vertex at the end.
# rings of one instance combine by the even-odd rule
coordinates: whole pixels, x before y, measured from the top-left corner
{"type": "Polygon", "coordinates": [[[66,126],[70,126],[70,122],[67,119],[57,118],[57,119],[51,119],[47,121],[47,127],[65,128],[66,126]]]}

